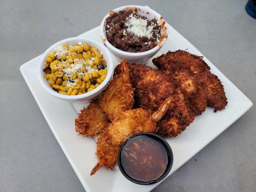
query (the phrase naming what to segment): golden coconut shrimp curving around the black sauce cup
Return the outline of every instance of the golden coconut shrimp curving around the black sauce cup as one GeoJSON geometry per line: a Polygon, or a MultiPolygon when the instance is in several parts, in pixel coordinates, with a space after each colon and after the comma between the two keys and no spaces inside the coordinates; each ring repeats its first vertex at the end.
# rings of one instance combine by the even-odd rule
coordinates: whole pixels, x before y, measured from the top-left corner
{"type": "Polygon", "coordinates": [[[171,102],[172,97],[167,98],[151,116],[145,109],[136,108],[123,112],[122,116],[113,120],[98,136],[96,153],[98,163],[92,169],[91,175],[102,166],[114,168],[119,148],[128,137],[140,132],[154,132],[156,122],[164,116],[171,102]]]}

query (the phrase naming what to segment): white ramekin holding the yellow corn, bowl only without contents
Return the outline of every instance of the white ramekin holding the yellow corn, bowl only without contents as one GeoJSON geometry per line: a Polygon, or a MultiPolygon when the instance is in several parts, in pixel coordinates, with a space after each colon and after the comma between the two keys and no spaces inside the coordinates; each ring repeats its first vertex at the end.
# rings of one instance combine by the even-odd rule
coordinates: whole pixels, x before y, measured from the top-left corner
{"type": "Polygon", "coordinates": [[[83,101],[88,101],[93,99],[94,97],[100,95],[103,90],[107,87],[107,85],[109,84],[109,81],[113,75],[114,72],[114,63],[113,63],[113,59],[112,59],[112,55],[110,53],[110,51],[104,47],[102,44],[92,40],[92,39],[88,39],[88,38],[79,38],[79,37],[73,37],[73,38],[68,38],[68,39],[64,39],[59,41],[58,43],[55,43],[54,45],[52,45],[51,47],[49,47],[41,56],[39,65],[38,65],[38,79],[40,84],[43,86],[43,88],[52,96],[55,96],[59,99],[62,99],[64,101],[68,101],[71,103],[79,103],[79,102],[83,102],[83,101]],[[45,67],[45,59],[48,57],[48,54],[57,46],[66,44],[66,45],[75,45],[78,44],[79,42],[82,43],[87,43],[89,46],[94,46],[96,48],[98,48],[98,50],[102,53],[104,60],[106,60],[107,62],[107,76],[105,78],[105,80],[102,82],[102,84],[100,84],[97,88],[95,88],[94,90],[85,93],[85,94],[81,94],[81,95],[76,95],[76,96],[67,96],[67,95],[62,95],[59,94],[58,92],[54,91],[53,88],[48,84],[47,80],[44,77],[45,72],[43,71],[44,67],[45,67]]]}

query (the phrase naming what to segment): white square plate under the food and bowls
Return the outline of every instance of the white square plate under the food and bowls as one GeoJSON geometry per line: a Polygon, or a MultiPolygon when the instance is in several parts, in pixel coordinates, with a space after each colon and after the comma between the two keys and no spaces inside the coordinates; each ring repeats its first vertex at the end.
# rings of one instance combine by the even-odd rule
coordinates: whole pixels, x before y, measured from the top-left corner
{"type": "MultiPolygon", "coordinates": [[[[190,53],[202,55],[174,28],[170,25],[168,27],[169,37],[156,56],[166,53],[168,50],[175,51],[177,49],[187,49],[190,53]]],[[[80,37],[89,37],[102,43],[99,26],[80,37]]],[[[122,176],[117,166],[113,171],[101,168],[95,175],[90,176],[91,169],[97,163],[95,138],[84,138],[77,136],[74,132],[74,119],[77,117],[77,112],[88,103],[71,104],[49,95],[37,79],[39,59],[40,56],[28,61],[20,67],[20,70],[51,131],[86,192],[149,192],[160,184],[160,182],[147,186],[134,184],[122,176]]],[[[204,60],[210,66],[211,72],[218,75],[223,83],[229,103],[224,110],[217,113],[213,112],[213,108],[207,108],[202,115],[195,117],[194,122],[181,135],[167,138],[174,156],[173,166],[168,176],[227,129],[253,105],[207,58],[204,57],[204,60]]],[[[117,60],[114,62],[119,64],[117,60]]],[[[152,61],[148,61],[147,65],[153,66],[152,61]]]]}

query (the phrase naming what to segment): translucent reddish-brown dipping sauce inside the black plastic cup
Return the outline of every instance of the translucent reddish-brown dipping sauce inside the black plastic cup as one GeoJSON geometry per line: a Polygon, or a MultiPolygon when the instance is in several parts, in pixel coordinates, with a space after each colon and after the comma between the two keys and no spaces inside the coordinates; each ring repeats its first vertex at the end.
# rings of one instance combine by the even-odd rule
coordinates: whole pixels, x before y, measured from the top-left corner
{"type": "Polygon", "coordinates": [[[132,179],[152,181],[161,177],[168,165],[168,154],[163,144],[146,136],[130,138],[122,147],[121,164],[132,179]]]}

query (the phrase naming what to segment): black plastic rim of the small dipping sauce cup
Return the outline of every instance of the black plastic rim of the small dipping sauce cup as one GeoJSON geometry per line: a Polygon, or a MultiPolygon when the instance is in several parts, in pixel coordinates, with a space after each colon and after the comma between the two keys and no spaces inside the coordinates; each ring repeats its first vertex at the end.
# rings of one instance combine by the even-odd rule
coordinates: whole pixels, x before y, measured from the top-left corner
{"type": "Polygon", "coordinates": [[[163,179],[169,174],[169,172],[171,171],[171,168],[172,168],[172,164],[173,164],[173,153],[172,153],[172,150],[171,150],[171,146],[168,144],[168,142],[167,142],[163,137],[161,137],[161,136],[159,136],[159,135],[157,135],[157,134],[155,134],[155,133],[148,133],[148,132],[136,133],[136,134],[130,136],[129,138],[127,138],[127,139],[123,142],[123,144],[121,145],[121,147],[120,147],[120,149],[119,149],[119,152],[118,152],[118,156],[117,156],[117,164],[118,164],[118,167],[119,167],[119,169],[120,169],[122,175],[123,175],[126,179],[128,179],[128,180],[130,180],[130,181],[132,181],[132,182],[134,182],[134,183],[136,183],[136,184],[140,184],[140,185],[151,185],[151,184],[154,184],[154,183],[159,182],[160,180],[163,180],[163,179]],[[128,142],[129,139],[134,138],[134,137],[139,136],[139,135],[146,135],[146,136],[149,136],[149,137],[152,138],[152,139],[157,140],[158,142],[160,142],[160,143],[164,146],[164,148],[165,148],[165,150],[166,150],[166,152],[167,152],[167,156],[168,156],[167,167],[166,167],[164,173],[163,173],[158,179],[156,179],[156,180],[151,180],[151,181],[135,180],[135,179],[133,179],[132,177],[130,177],[130,176],[124,171],[124,168],[123,168],[123,166],[122,166],[122,163],[121,163],[122,148],[124,147],[125,144],[127,144],[127,142],[128,142]]]}

